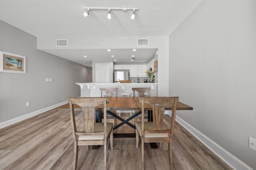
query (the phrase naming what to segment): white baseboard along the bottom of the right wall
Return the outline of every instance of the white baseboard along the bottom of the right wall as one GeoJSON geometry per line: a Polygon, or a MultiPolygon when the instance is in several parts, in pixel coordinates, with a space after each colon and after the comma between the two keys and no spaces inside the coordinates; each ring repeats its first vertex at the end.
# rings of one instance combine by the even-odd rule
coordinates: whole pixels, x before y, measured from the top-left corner
{"type": "Polygon", "coordinates": [[[231,166],[231,168],[235,170],[253,170],[244,162],[236,158],[227,150],[220,147],[220,145],[218,145],[217,143],[209,139],[207,136],[205,136],[200,131],[192,127],[190,124],[188,124],[186,121],[184,121],[180,117],[176,116],[176,121],[180,123],[180,125],[182,125],[190,133],[192,133],[192,135],[194,135],[194,137],[196,137],[199,141],[201,141],[206,147],[212,150],[212,152],[214,152],[224,162],[226,162],[229,166],[231,166]]]}

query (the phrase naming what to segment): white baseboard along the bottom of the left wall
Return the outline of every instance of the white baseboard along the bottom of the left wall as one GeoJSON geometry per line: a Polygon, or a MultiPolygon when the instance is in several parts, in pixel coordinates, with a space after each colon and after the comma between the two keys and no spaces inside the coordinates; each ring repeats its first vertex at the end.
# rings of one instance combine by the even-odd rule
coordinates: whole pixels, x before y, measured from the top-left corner
{"type": "Polygon", "coordinates": [[[0,122],[0,129],[2,129],[2,128],[6,127],[6,126],[10,126],[10,125],[12,125],[14,123],[17,123],[19,121],[28,119],[28,118],[33,117],[35,115],[39,115],[39,114],[44,113],[44,112],[46,112],[46,111],[48,111],[50,109],[54,109],[56,107],[62,106],[62,105],[67,104],[67,103],[68,103],[68,101],[61,102],[61,103],[54,104],[54,105],[49,106],[49,107],[45,107],[45,108],[40,109],[40,110],[33,111],[33,112],[28,113],[26,115],[22,115],[22,116],[15,117],[15,118],[7,120],[7,121],[0,122]]]}

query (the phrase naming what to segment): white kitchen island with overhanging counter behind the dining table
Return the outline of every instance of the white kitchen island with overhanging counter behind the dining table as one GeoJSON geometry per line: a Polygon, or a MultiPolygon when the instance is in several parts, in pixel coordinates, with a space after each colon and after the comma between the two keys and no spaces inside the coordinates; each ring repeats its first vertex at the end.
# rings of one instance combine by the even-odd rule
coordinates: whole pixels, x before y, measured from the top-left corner
{"type": "MultiPolygon", "coordinates": [[[[128,92],[133,95],[132,88],[150,87],[150,96],[158,96],[158,83],[76,83],[81,88],[81,97],[100,97],[100,88],[118,88],[118,96],[128,92]]],[[[138,96],[138,92],[135,92],[138,96]]]]}

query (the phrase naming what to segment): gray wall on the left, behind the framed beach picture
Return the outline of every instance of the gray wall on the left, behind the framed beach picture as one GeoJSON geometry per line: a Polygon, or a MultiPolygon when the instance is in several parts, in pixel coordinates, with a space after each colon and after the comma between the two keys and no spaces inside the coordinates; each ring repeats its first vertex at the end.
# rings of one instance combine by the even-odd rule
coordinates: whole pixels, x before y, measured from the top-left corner
{"type": "Polygon", "coordinates": [[[92,82],[91,68],[36,47],[36,37],[0,20],[0,51],[26,56],[27,62],[27,74],[0,72],[0,123],[78,97],[75,83],[92,82]]]}

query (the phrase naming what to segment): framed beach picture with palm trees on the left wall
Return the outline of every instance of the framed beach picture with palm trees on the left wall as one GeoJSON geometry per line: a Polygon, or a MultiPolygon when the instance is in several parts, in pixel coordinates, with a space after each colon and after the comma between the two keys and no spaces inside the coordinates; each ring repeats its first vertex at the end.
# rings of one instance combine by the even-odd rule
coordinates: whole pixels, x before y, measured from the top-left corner
{"type": "Polygon", "coordinates": [[[26,57],[0,51],[0,72],[26,74],[26,57]]]}

